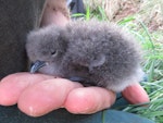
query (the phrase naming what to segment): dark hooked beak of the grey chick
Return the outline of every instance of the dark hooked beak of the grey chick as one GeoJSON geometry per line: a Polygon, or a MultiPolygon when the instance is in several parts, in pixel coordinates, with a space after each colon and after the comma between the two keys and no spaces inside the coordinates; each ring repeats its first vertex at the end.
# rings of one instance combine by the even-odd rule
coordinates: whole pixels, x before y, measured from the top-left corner
{"type": "Polygon", "coordinates": [[[40,67],[47,65],[45,61],[37,60],[35,63],[32,64],[30,73],[36,73],[40,67]]]}

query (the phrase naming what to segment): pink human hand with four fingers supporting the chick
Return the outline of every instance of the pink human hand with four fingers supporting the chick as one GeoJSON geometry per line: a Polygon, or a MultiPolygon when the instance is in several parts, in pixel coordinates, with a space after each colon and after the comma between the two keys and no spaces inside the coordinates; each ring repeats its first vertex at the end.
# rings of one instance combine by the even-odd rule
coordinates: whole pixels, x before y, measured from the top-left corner
{"type": "MultiPolygon", "coordinates": [[[[139,84],[126,88],[123,96],[131,103],[149,101],[139,84]]],[[[32,116],[59,108],[75,114],[90,114],[111,107],[115,97],[104,88],[83,87],[79,83],[42,74],[16,73],[0,83],[0,104],[17,103],[20,110],[32,116]]]]}

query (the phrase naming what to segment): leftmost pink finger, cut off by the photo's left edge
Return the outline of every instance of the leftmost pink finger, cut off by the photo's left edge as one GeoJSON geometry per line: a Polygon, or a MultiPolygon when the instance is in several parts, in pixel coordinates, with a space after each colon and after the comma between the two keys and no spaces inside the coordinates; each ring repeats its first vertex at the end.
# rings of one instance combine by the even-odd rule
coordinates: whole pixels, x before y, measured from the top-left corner
{"type": "Polygon", "coordinates": [[[16,73],[4,77],[0,82],[0,104],[15,104],[26,87],[49,78],[53,76],[29,73],[16,73]]]}

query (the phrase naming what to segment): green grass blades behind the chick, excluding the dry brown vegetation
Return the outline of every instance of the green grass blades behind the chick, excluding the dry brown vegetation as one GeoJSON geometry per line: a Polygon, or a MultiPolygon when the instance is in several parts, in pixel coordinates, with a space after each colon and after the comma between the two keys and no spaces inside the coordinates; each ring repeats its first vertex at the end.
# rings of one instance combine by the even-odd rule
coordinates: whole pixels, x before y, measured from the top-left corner
{"type": "MultiPolygon", "coordinates": [[[[136,13],[115,23],[127,28],[142,46],[145,52],[142,66],[148,75],[148,82],[143,82],[142,86],[151,102],[148,107],[128,104],[123,110],[163,123],[163,32],[159,29],[150,32],[140,16],[143,14],[136,13]]],[[[86,5],[86,14],[83,17],[87,21],[90,19],[109,21],[102,7],[92,11],[89,5],[86,5]]]]}

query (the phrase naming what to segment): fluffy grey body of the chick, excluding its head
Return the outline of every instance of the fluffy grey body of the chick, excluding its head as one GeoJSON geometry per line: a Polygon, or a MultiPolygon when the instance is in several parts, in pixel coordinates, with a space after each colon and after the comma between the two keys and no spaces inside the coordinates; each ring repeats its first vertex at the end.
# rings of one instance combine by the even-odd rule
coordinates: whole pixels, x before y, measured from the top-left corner
{"type": "Polygon", "coordinates": [[[74,22],[67,25],[68,45],[63,66],[66,77],[121,91],[140,82],[140,49],[134,37],[114,24],[74,22]]]}

